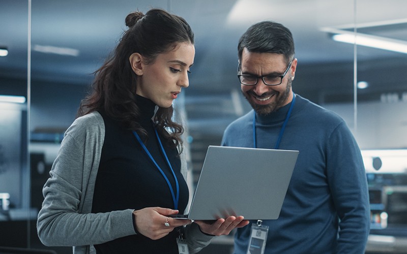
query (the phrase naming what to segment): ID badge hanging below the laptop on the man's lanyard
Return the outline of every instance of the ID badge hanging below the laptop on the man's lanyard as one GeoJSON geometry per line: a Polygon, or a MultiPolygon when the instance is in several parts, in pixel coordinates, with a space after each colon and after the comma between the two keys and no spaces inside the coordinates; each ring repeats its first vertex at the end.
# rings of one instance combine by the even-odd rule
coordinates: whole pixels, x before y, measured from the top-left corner
{"type": "Polygon", "coordinates": [[[246,254],[264,254],[268,233],[269,226],[261,226],[261,220],[257,221],[257,224],[253,223],[246,254]]]}

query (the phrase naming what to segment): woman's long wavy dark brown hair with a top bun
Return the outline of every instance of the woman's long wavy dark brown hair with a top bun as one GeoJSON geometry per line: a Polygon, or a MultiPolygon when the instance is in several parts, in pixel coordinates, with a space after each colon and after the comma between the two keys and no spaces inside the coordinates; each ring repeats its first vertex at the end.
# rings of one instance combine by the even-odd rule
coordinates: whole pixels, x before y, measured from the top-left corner
{"type": "MultiPolygon", "coordinates": [[[[144,15],[132,12],[126,17],[129,27],[106,59],[95,72],[92,92],[81,101],[77,117],[93,111],[103,110],[109,117],[119,121],[126,129],[136,131],[143,140],[147,132],[141,128],[138,119],[140,110],[136,105],[136,78],[129,57],[140,53],[147,63],[153,63],[157,55],[173,50],[178,43],[194,44],[194,35],[189,24],[182,18],[161,9],[151,9],[144,15]]],[[[172,106],[159,108],[154,122],[157,131],[171,146],[182,144],[182,125],[173,122],[172,106]],[[169,128],[171,131],[165,131],[169,128]]]]}

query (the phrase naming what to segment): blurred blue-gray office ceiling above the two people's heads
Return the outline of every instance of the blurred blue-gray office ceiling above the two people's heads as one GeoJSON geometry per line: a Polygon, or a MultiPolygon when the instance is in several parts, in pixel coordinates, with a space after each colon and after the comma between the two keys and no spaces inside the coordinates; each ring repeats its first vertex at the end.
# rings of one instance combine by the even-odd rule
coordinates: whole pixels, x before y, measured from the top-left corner
{"type": "MultiPolygon", "coordinates": [[[[256,21],[274,20],[292,30],[301,69],[321,62],[353,61],[353,46],[332,41],[321,28],[402,19],[407,9],[402,0],[31,0],[31,5],[34,79],[88,81],[89,73],[100,66],[125,29],[124,17],[135,9],[145,12],[159,7],[185,17],[192,26],[196,36],[193,71],[202,89],[222,87],[217,80],[235,75],[237,41],[256,21]],[[41,46],[71,49],[77,56],[38,52],[41,46]]],[[[10,51],[0,58],[0,74],[25,75],[28,0],[0,0],[0,6],[0,47],[10,51]]],[[[391,27],[377,24],[364,28],[366,33],[407,40],[407,21],[391,27]]],[[[405,54],[359,49],[361,60],[381,56],[405,59],[405,54]]]]}

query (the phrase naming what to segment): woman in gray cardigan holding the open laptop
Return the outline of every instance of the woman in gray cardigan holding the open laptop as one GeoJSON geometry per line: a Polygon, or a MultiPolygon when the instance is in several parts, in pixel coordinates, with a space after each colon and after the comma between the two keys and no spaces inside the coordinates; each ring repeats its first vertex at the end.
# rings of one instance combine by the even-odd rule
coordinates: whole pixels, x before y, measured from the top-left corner
{"type": "Polygon", "coordinates": [[[212,224],[169,217],[188,203],[183,128],[171,117],[189,85],[194,36],[183,18],[159,9],[131,13],[126,25],[65,133],[38,234],[74,253],[178,253],[177,244],[194,253],[248,224],[242,216],[212,224]]]}

